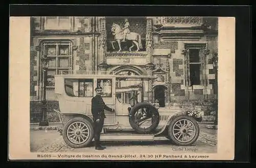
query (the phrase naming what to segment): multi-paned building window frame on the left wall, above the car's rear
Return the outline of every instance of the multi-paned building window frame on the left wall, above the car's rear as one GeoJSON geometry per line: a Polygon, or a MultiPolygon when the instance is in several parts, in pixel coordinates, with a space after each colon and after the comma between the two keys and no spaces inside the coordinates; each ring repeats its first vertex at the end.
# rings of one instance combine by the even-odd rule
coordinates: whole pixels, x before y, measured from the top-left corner
{"type": "MultiPolygon", "coordinates": [[[[46,40],[43,41],[41,43],[41,51],[40,51],[40,55],[46,55],[47,58],[50,60],[54,60],[55,61],[55,66],[54,67],[50,67],[48,66],[48,70],[47,70],[47,79],[49,79],[49,71],[54,71],[54,74],[57,75],[59,74],[60,70],[72,70],[73,69],[73,50],[72,50],[72,46],[73,46],[73,42],[71,40],[46,40]],[[56,45],[55,50],[56,50],[56,55],[48,55],[47,53],[47,45],[56,45]],[[60,55],[60,51],[59,51],[59,46],[60,45],[69,45],[68,49],[69,49],[69,53],[68,55],[60,55]],[[68,59],[68,66],[67,67],[61,67],[59,66],[59,61],[60,59],[68,59]]],[[[41,62],[41,67],[42,67],[42,62],[41,62]]],[[[42,80],[42,78],[41,78],[42,80]]],[[[48,83],[46,85],[47,89],[53,89],[55,87],[55,83],[54,85],[49,86],[48,83]]]]}

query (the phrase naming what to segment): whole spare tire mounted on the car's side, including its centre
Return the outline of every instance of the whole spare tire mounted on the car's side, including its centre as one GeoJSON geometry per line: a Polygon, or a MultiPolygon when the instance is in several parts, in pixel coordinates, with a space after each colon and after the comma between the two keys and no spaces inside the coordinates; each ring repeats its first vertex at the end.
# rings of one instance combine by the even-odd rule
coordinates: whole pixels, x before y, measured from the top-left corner
{"type": "Polygon", "coordinates": [[[158,110],[149,103],[137,103],[129,113],[130,125],[138,133],[146,134],[152,132],[157,128],[159,121],[160,116],[158,110]],[[148,121],[150,118],[151,121],[148,121]]]}

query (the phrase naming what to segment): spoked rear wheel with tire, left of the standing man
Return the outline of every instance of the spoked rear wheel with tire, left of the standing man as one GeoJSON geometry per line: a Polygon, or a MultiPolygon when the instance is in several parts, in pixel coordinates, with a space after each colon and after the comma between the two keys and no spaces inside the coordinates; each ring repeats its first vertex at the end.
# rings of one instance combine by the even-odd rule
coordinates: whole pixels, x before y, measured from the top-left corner
{"type": "Polygon", "coordinates": [[[82,117],[70,119],[70,121],[65,124],[62,132],[64,141],[72,148],[86,147],[92,141],[93,134],[94,130],[92,123],[88,121],[88,119],[82,117]],[[72,132],[74,132],[73,134],[76,136],[72,135],[72,132]]]}

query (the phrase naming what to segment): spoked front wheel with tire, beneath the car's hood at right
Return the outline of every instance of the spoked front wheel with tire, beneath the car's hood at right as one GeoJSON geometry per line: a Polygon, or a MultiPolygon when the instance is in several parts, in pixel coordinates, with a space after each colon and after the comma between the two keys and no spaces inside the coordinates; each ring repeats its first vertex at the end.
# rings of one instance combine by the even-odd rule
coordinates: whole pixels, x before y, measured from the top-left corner
{"type": "Polygon", "coordinates": [[[186,115],[177,116],[168,127],[169,138],[178,146],[192,145],[198,139],[199,132],[196,119],[186,115]],[[193,134],[188,134],[188,132],[193,132],[193,134]],[[185,136],[189,138],[185,140],[185,136]]]}

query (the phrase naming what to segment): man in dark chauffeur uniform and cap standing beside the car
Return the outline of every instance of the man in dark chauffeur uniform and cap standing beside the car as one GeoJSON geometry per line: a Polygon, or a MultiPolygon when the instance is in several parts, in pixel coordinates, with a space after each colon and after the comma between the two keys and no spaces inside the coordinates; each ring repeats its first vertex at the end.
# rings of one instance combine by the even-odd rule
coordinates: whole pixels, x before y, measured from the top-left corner
{"type": "Polygon", "coordinates": [[[100,133],[103,128],[105,113],[104,110],[115,112],[114,109],[109,108],[105,105],[103,99],[101,98],[102,87],[98,86],[95,88],[97,95],[92,99],[92,114],[94,121],[94,141],[95,141],[95,149],[103,150],[105,147],[100,145],[100,133]]]}

